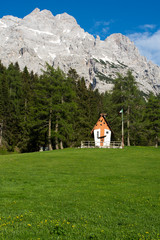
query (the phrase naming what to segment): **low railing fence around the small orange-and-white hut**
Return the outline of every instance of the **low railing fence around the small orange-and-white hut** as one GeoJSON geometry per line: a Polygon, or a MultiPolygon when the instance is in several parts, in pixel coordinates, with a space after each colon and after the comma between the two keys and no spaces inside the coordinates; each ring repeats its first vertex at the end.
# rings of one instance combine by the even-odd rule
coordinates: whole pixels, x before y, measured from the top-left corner
{"type": "Polygon", "coordinates": [[[101,141],[81,141],[81,148],[122,148],[122,143],[118,141],[111,141],[105,143],[101,141]]]}

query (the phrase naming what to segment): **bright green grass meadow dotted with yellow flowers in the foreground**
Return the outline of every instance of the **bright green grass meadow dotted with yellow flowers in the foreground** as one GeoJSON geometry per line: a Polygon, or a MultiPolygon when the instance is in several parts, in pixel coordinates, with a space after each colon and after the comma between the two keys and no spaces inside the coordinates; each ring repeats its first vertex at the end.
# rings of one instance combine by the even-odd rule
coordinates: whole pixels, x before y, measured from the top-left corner
{"type": "Polygon", "coordinates": [[[0,240],[160,239],[160,148],[0,156],[0,240]]]}

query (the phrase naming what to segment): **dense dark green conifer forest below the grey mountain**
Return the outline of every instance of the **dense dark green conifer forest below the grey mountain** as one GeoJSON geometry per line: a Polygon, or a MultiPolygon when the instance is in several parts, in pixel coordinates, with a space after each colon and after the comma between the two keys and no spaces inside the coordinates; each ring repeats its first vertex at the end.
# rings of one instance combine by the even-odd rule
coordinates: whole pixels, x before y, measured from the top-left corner
{"type": "Polygon", "coordinates": [[[107,114],[112,140],[121,140],[124,111],[125,145],[158,146],[160,141],[160,96],[143,94],[129,71],[117,74],[112,92],[100,94],[86,87],[74,69],[65,74],[46,65],[41,76],[7,68],[0,62],[0,148],[33,152],[40,147],[78,147],[93,140],[91,130],[100,113],[107,114]]]}

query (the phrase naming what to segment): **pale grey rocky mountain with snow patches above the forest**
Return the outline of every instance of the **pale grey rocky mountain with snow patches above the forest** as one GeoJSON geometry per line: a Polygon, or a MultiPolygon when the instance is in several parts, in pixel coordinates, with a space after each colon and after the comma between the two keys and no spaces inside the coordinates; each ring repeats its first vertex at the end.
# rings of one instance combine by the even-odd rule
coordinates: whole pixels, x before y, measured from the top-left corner
{"type": "Polygon", "coordinates": [[[139,88],[160,93],[160,67],[147,62],[134,43],[122,34],[105,41],[96,39],[67,13],[53,16],[48,10],[35,9],[23,19],[0,19],[0,59],[6,66],[18,62],[38,74],[48,62],[64,72],[70,68],[92,83],[100,92],[111,90],[116,73],[131,69],[139,88]]]}

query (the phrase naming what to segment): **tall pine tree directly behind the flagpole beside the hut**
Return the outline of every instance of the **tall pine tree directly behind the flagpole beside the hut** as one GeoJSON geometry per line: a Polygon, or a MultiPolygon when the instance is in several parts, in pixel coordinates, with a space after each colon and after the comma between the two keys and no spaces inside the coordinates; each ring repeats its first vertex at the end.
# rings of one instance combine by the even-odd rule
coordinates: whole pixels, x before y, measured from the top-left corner
{"type": "Polygon", "coordinates": [[[118,116],[119,111],[123,108],[125,116],[125,134],[127,135],[127,145],[130,146],[130,141],[135,143],[134,131],[138,131],[139,112],[141,108],[142,97],[140,91],[137,88],[136,81],[131,73],[127,72],[127,75],[123,77],[118,74],[115,79],[115,86],[113,88],[111,102],[112,102],[112,117],[111,121],[114,122],[114,132],[116,138],[120,139],[121,135],[121,116],[118,116]]]}

